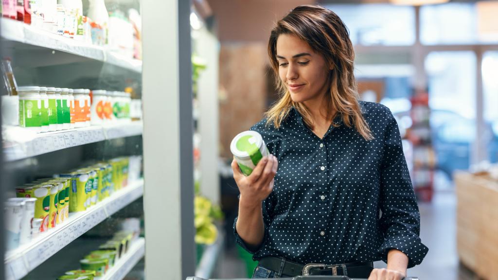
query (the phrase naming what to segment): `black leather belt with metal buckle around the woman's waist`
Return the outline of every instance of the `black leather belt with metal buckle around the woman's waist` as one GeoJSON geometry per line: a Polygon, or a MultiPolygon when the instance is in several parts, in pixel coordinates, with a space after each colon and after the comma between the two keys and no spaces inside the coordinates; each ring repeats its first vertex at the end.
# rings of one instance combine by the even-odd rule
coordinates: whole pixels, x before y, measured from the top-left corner
{"type": "Polygon", "coordinates": [[[372,262],[352,262],[339,265],[308,264],[301,265],[284,258],[264,257],[259,261],[265,269],[279,272],[284,276],[298,275],[344,275],[350,278],[369,278],[373,270],[372,262]]]}

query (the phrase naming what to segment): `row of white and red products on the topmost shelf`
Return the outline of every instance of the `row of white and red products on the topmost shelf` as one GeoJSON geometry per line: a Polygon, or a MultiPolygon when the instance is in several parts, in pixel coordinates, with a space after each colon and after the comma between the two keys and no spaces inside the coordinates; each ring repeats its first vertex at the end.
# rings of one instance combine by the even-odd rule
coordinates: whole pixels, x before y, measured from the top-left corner
{"type": "Polygon", "coordinates": [[[141,58],[141,19],[135,9],[124,16],[121,10],[109,12],[104,0],[90,0],[84,15],[82,0],[3,0],[2,14],[40,30],[141,58]]]}

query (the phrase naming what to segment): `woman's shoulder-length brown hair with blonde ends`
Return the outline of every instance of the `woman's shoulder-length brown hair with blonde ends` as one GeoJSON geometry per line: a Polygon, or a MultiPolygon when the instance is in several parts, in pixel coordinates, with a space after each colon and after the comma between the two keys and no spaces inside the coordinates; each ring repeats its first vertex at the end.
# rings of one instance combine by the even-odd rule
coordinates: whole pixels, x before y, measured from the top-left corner
{"type": "MultiPolygon", "coordinates": [[[[275,74],[275,84],[280,99],[265,113],[267,124],[273,123],[276,128],[288,116],[294,107],[310,128],[314,128],[309,110],[302,103],[293,102],[290,93],[278,75],[276,45],[280,34],[292,34],[308,43],[318,54],[321,54],[327,65],[333,69],[329,73],[328,119],[333,119],[332,112],[341,114],[347,127],[355,127],[365,140],[372,140],[372,132],[365,121],[358,103],[358,86],[354,75],[353,63],[355,52],[349,38],[349,31],[344,22],[333,11],[317,5],[300,5],[292,9],[286,16],[277,21],[271,30],[268,41],[268,56],[275,74]],[[332,110],[335,109],[335,110],[332,110]]],[[[333,124],[334,125],[334,124],[333,124]]]]}

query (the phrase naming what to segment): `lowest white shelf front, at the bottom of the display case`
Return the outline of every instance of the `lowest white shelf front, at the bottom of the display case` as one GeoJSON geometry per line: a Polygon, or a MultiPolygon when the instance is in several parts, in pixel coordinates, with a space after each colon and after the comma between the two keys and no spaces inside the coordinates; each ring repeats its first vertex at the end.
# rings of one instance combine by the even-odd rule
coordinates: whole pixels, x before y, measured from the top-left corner
{"type": "Polygon", "coordinates": [[[145,253],[145,239],[135,240],[128,252],[112,267],[102,280],[122,280],[133,269],[133,267],[143,258],[145,253]]]}

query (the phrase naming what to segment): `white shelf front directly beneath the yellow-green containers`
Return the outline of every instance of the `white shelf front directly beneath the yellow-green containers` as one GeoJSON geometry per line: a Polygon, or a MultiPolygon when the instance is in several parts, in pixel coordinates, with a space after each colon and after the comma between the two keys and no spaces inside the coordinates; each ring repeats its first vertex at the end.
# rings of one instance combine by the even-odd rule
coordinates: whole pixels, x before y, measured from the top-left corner
{"type": "Polygon", "coordinates": [[[63,225],[39,234],[28,244],[6,252],[5,279],[23,278],[66,245],[142,195],[143,180],[132,182],[87,211],[70,213],[68,221],[63,225]]]}

